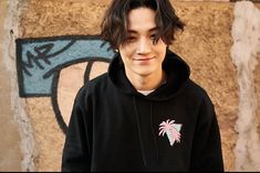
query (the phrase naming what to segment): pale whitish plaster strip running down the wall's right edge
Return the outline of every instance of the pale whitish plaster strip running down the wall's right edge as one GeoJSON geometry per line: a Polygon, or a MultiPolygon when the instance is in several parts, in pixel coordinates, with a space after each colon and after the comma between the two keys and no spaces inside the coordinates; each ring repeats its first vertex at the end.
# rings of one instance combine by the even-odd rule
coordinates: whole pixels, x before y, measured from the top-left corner
{"type": "MultiPolygon", "coordinates": [[[[249,1],[237,2],[232,25],[231,57],[237,66],[239,111],[236,130],[236,170],[260,171],[258,95],[254,71],[260,54],[260,10],[249,1]],[[259,53],[259,54],[258,54],[259,53]]],[[[259,76],[258,76],[259,77],[259,76]]]]}

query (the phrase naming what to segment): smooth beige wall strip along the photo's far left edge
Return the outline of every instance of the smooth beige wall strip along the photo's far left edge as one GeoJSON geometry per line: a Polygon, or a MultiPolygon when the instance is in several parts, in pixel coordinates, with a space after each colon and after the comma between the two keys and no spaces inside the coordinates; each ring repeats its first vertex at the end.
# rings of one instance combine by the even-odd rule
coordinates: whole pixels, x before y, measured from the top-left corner
{"type": "Polygon", "coordinates": [[[11,110],[11,84],[10,73],[6,68],[4,36],[10,34],[4,29],[4,20],[8,18],[8,1],[0,1],[0,171],[21,171],[21,150],[18,126],[11,110]]]}

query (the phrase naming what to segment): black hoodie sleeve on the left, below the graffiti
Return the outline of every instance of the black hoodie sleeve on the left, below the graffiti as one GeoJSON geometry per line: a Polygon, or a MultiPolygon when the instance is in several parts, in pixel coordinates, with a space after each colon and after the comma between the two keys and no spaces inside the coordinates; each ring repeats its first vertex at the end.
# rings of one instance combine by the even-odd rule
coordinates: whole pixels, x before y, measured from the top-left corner
{"type": "Polygon", "coordinates": [[[86,115],[91,112],[85,106],[85,89],[81,88],[66,131],[62,154],[62,172],[91,171],[90,138],[87,136],[86,115]]]}

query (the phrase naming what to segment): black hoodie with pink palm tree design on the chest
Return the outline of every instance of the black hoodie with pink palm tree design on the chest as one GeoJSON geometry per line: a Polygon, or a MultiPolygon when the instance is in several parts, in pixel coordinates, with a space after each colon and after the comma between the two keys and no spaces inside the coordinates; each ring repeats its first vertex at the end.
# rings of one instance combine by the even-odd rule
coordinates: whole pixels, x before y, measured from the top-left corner
{"type": "Polygon", "coordinates": [[[167,82],[147,96],[127,79],[119,55],[77,93],[62,171],[223,171],[214,105],[167,51],[167,82]]]}

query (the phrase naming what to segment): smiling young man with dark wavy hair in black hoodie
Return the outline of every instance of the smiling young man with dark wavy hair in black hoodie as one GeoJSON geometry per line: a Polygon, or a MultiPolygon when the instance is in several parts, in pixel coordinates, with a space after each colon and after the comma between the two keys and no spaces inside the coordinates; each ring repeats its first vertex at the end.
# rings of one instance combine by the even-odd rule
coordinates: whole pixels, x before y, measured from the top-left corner
{"type": "Polygon", "coordinates": [[[168,0],[113,0],[102,37],[118,50],[79,91],[62,171],[223,171],[214,105],[167,47],[184,23],[168,0]]]}

